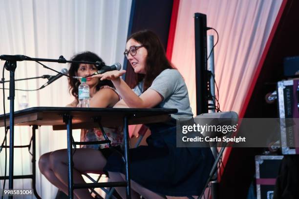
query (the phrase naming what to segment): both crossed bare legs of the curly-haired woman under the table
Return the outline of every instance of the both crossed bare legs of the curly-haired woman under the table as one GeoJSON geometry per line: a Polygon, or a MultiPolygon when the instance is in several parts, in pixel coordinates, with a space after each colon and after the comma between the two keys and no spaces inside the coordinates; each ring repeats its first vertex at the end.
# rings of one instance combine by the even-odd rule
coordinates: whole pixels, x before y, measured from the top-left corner
{"type": "MultiPolygon", "coordinates": [[[[76,152],[73,155],[73,162],[74,183],[85,183],[81,173],[86,171],[103,171],[106,159],[98,150],[76,149],[76,152]]],[[[39,168],[46,179],[68,195],[68,160],[66,149],[43,154],[39,160],[39,168]]],[[[74,197],[76,199],[92,198],[88,189],[75,189],[74,197]]]]}

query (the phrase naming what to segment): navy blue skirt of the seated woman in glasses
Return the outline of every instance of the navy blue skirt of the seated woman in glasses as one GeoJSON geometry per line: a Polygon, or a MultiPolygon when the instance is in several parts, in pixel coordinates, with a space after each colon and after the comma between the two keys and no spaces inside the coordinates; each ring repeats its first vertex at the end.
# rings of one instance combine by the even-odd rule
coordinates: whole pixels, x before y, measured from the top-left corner
{"type": "MultiPolygon", "coordinates": [[[[208,179],[214,157],[207,148],[176,147],[176,122],[148,125],[148,146],[129,149],[131,179],[163,196],[198,196],[208,179]]],[[[104,170],[125,174],[120,153],[107,159],[104,170]]]]}

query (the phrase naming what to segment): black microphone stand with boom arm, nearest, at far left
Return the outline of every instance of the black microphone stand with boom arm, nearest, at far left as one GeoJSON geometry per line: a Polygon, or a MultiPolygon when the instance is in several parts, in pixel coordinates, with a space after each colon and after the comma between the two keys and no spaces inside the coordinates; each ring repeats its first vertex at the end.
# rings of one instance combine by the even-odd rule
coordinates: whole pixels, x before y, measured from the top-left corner
{"type": "MultiPolygon", "coordinates": [[[[9,97],[10,100],[10,112],[9,112],[9,178],[8,178],[8,188],[14,188],[14,122],[15,122],[15,70],[17,68],[17,61],[46,61],[46,62],[57,62],[57,63],[87,63],[94,65],[103,65],[103,62],[89,62],[89,61],[71,61],[65,60],[64,56],[60,56],[58,60],[53,59],[40,59],[40,58],[30,58],[24,55],[1,55],[1,60],[5,60],[4,68],[9,71],[9,97]]],[[[42,64],[42,63],[40,63],[42,64]]],[[[42,64],[43,65],[43,64],[42,64]]],[[[43,67],[53,70],[45,65],[43,67]]],[[[5,117],[5,115],[4,115],[5,117]]],[[[9,196],[9,199],[13,199],[13,196],[9,196]]]]}

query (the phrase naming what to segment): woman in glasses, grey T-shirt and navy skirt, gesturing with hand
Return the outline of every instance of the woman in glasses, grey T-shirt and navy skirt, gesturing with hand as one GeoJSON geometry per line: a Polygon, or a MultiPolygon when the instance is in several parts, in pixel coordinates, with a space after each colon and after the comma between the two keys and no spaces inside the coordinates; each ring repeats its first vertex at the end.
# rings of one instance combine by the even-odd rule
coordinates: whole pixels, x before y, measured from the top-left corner
{"type": "MultiPolygon", "coordinates": [[[[128,38],[124,53],[137,74],[138,84],[130,89],[120,77],[126,71],[109,71],[93,77],[111,80],[122,100],[114,107],[177,108],[171,122],[148,125],[148,146],[129,149],[131,195],[149,199],[164,196],[198,196],[214,161],[210,148],[177,148],[176,119],[192,118],[186,84],[167,60],[156,34],[149,30],[128,38]]],[[[125,179],[122,158],[114,153],[104,168],[111,181],[125,179]]],[[[125,188],[116,188],[126,198],[125,188]]]]}

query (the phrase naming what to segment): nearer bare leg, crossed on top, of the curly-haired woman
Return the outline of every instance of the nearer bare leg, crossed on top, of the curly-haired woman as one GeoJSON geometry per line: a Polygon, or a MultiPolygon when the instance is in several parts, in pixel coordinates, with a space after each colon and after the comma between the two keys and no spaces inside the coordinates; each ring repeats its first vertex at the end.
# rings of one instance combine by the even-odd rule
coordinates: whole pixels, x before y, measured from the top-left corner
{"type": "MultiPolygon", "coordinates": [[[[73,150],[74,152],[74,150],[73,150]]],[[[103,171],[106,159],[102,153],[95,149],[76,149],[73,155],[74,183],[85,183],[81,173],[86,171],[103,171]]],[[[67,187],[68,160],[66,149],[57,150],[50,154],[50,166],[57,177],[67,187]]],[[[88,189],[75,189],[74,194],[79,199],[91,198],[88,189]]]]}

